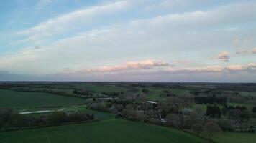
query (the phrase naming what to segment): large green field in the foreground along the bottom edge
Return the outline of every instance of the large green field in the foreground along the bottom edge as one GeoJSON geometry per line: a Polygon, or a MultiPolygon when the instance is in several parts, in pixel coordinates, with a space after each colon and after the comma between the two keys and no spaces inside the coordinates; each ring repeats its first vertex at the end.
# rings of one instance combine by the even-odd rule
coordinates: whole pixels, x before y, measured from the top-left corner
{"type": "Polygon", "coordinates": [[[101,122],[48,127],[27,131],[0,133],[0,142],[6,143],[204,143],[204,139],[191,134],[139,122],[110,119],[101,122]]]}

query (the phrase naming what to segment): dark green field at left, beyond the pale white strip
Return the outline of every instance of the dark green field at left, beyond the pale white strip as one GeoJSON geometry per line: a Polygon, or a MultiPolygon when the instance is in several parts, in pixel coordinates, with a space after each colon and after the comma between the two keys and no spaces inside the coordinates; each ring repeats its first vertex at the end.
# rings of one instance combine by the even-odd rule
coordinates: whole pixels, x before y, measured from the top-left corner
{"type": "Polygon", "coordinates": [[[42,92],[15,92],[0,89],[0,107],[42,107],[82,104],[83,99],[42,92]]]}

